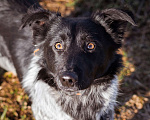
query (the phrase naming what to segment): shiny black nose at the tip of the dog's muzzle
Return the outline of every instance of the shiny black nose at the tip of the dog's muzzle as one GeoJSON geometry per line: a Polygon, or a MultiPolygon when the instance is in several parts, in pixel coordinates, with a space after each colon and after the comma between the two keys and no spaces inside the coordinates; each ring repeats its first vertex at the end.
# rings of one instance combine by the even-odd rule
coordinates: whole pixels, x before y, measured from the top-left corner
{"type": "Polygon", "coordinates": [[[60,76],[60,81],[64,87],[74,87],[78,81],[78,76],[74,72],[64,72],[60,76]]]}

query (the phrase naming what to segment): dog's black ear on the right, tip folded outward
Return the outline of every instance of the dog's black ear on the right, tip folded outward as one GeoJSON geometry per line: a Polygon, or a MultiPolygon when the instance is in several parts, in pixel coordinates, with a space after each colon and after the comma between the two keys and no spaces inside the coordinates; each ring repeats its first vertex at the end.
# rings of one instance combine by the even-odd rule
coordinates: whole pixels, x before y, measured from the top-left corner
{"type": "Polygon", "coordinates": [[[117,44],[121,44],[127,23],[136,26],[130,11],[118,9],[97,11],[92,15],[92,20],[101,24],[117,44]]]}

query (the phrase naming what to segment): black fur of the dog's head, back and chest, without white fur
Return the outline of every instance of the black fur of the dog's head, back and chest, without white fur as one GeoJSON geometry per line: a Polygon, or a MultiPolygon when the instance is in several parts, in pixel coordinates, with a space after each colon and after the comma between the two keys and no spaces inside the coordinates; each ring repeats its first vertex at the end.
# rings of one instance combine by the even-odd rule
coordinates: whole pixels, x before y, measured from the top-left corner
{"type": "MultiPolygon", "coordinates": [[[[103,90],[106,91],[122,66],[121,56],[116,51],[121,47],[126,24],[135,25],[132,17],[122,10],[107,9],[97,11],[91,17],[65,18],[61,17],[60,13],[50,12],[41,7],[35,10],[32,7],[24,15],[21,25],[22,15],[34,1],[0,2],[17,4],[15,11],[11,7],[8,7],[10,11],[0,11],[0,19],[3,19],[0,21],[0,36],[4,38],[0,48],[9,51],[8,54],[4,53],[4,50],[0,52],[9,57],[19,79],[22,80],[29,70],[34,49],[40,49],[37,52],[37,56],[40,57],[37,64],[41,70],[38,72],[37,81],[42,80],[55,91],[62,92],[57,103],[72,118],[94,120],[96,111],[101,110],[104,107],[102,103],[105,103],[101,96],[98,97],[99,100],[96,99],[99,96],[96,88],[104,85],[103,90]],[[10,14],[11,18],[5,18],[7,14],[10,14]],[[25,29],[18,31],[20,25],[25,29]],[[33,40],[30,28],[26,27],[28,25],[33,31],[33,40]],[[55,48],[56,43],[62,44],[61,50],[55,48]],[[95,48],[88,49],[89,43],[95,48]],[[68,81],[63,84],[63,75],[71,77],[73,86],[70,86],[68,81]],[[95,92],[91,93],[85,106],[82,98],[74,93],[84,90],[83,96],[88,96],[91,86],[95,86],[95,92]],[[68,103],[67,98],[70,98],[68,103]]],[[[30,94],[30,91],[27,92],[30,94]]],[[[106,119],[110,113],[113,114],[109,111],[101,119],[106,119]]]]}

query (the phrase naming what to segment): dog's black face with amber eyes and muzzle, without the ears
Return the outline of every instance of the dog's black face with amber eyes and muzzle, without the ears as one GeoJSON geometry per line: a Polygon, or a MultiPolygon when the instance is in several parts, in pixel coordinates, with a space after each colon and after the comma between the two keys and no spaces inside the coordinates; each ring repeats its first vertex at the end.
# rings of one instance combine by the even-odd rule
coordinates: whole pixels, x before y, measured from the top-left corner
{"type": "Polygon", "coordinates": [[[61,89],[85,89],[107,71],[115,43],[102,26],[90,19],[63,18],[57,27],[51,27],[44,43],[44,58],[61,89]]]}

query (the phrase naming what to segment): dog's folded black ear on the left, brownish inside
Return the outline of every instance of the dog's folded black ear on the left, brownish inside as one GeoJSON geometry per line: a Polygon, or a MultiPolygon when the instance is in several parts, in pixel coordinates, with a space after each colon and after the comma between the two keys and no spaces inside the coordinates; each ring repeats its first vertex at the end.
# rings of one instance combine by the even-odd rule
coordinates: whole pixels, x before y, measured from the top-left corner
{"type": "Polygon", "coordinates": [[[46,37],[50,26],[59,19],[60,13],[50,12],[48,10],[29,10],[22,18],[21,29],[29,25],[33,30],[33,44],[42,43],[46,37]]]}

